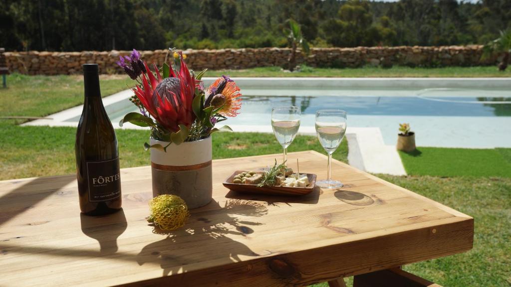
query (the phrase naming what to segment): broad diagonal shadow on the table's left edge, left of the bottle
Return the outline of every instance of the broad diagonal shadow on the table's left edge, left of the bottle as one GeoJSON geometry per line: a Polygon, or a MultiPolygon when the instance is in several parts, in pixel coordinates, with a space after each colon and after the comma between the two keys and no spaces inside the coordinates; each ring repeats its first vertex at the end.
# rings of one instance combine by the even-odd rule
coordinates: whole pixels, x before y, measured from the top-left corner
{"type": "MultiPolygon", "coordinates": [[[[52,179],[49,177],[38,177],[29,181],[20,180],[11,182],[12,184],[19,184],[19,186],[8,194],[0,197],[0,225],[13,219],[18,214],[33,208],[38,202],[59,192],[62,187],[74,180],[76,180],[76,176],[69,175],[57,178],[53,177],[52,179]],[[44,189],[42,185],[45,183],[51,184],[52,188],[49,189],[46,187],[46,189],[44,189]],[[37,188],[38,190],[34,192],[29,192],[34,185],[40,185],[41,187],[37,188]]],[[[62,195],[64,195],[64,192],[62,192],[62,195]]]]}

